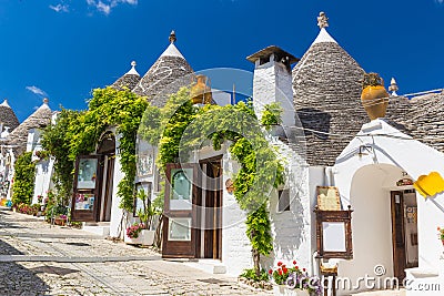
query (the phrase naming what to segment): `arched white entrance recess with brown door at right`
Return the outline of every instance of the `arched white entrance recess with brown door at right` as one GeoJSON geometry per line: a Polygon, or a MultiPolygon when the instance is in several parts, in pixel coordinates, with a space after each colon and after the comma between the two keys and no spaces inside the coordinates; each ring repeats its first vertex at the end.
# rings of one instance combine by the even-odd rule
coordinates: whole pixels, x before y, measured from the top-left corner
{"type": "Polygon", "coordinates": [[[350,187],[354,210],[353,261],[341,264],[341,275],[395,277],[417,267],[417,196],[412,178],[391,164],[359,169],[350,187]],[[384,274],[375,274],[383,266],[384,274]]]}

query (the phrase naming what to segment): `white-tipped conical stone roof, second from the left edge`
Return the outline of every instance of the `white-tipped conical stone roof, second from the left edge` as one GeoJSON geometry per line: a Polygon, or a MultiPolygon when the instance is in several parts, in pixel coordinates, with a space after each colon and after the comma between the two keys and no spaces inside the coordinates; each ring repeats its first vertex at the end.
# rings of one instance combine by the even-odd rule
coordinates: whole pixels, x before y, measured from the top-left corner
{"type": "Polygon", "coordinates": [[[20,155],[27,150],[28,132],[31,129],[46,127],[51,122],[51,115],[52,111],[48,105],[48,99],[44,99],[43,104],[8,135],[8,144],[17,146],[13,149],[16,155],[20,155]]]}

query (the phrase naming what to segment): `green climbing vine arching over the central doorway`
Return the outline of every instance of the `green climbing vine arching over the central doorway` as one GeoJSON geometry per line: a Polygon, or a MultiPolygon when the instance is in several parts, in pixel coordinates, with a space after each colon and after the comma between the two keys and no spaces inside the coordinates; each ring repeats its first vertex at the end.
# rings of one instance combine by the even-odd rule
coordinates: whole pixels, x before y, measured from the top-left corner
{"type": "MultiPolygon", "coordinates": [[[[279,123],[280,112],[276,105],[269,108],[265,123],[279,123]]],[[[140,130],[143,140],[159,146],[158,164],[163,172],[167,163],[178,162],[205,141],[214,150],[228,141],[231,143],[229,151],[241,164],[234,178],[234,196],[248,213],[246,235],[256,274],[260,256],[273,249],[268,211],[271,191],[284,182],[284,167],[261,127],[251,102],[196,108],[191,103],[189,90],[183,88],[170,96],[163,109],[147,109],[140,130]]]]}

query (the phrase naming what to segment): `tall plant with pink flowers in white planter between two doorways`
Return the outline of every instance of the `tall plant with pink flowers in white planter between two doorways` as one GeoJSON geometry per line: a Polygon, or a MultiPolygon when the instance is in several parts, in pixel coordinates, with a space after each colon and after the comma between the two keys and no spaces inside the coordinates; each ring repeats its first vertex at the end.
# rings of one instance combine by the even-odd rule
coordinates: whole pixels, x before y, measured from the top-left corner
{"type": "Polygon", "coordinates": [[[140,223],[134,223],[127,228],[124,242],[127,244],[148,245],[154,243],[155,231],[151,229],[152,221],[159,211],[151,204],[147,193],[141,190],[137,194],[137,198],[142,202],[142,208],[138,211],[140,223]]]}

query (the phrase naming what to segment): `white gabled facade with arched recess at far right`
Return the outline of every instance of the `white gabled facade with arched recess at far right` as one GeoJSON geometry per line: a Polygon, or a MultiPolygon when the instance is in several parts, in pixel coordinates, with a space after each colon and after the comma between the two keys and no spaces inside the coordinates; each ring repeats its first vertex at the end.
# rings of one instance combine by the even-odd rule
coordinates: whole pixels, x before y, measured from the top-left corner
{"type": "MultiPolygon", "coordinates": [[[[427,175],[433,171],[444,175],[443,153],[401,133],[384,120],[377,119],[363,125],[357,136],[336,159],[333,167],[341,202],[343,206],[351,204],[354,210],[354,256],[352,261],[339,262],[339,276],[349,277],[355,283],[357,277],[375,276],[376,265],[385,267],[383,277],[393,276],[390,192],[412,188],[396,186],[396,181],[405,177],[403,172],[407,177],[417,180],[420,175],[427,175]]],[[[406,271],[407,277],[413,280],[411,285],[438,282],[444,286],[444,282],[438,278],[438,274],[442,277],[444,272],[442,268],[440,271],[443,246],[436,231],[443,224],[443,195],[438,193],[424,198],[416,194],[418,267],[406,271]]],[[[411,232],[410,228],[406,231],[411,232]]],[[[414,254],[415,249],[412,248],[408,256],[414,254]]],[[[417,293],[408,290],[407,295],[417,293]]]]}

